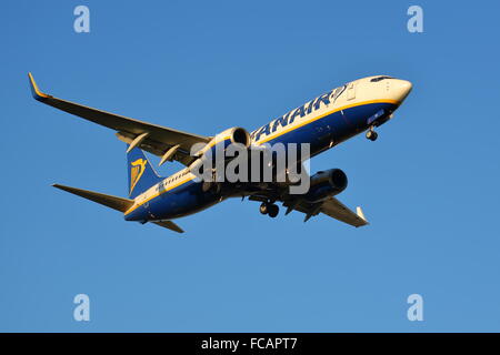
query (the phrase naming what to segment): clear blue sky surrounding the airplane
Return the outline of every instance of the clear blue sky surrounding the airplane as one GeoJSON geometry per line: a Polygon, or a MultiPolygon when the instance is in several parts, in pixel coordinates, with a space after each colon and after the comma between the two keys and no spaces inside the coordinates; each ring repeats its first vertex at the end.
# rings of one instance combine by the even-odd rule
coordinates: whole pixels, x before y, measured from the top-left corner
{"type": "MultiPolygon", "coordinates": [[[[9,1],[0,11],[0,331],[500,331],[499,24],[493,1],[9,1]],[[91,32],[73,31],[87,4],[91,32]],[[420,4],[424,33],[407,31],[420,4]],[[227,201],[179,237],[54,190],[126,195],[113,132],[59,98],[212,135],[371,74],[414,89],[341,168],[371,225],[227,201]],[[73,321],[76,294],[91,321],[73,321]],[[407,297],[424,298],[424,322],[407,297]]],[[[156,162],[158,159],[153,158],[156,162]]],[[[161,169],[163,174],[178,166],[161,169]]]]}

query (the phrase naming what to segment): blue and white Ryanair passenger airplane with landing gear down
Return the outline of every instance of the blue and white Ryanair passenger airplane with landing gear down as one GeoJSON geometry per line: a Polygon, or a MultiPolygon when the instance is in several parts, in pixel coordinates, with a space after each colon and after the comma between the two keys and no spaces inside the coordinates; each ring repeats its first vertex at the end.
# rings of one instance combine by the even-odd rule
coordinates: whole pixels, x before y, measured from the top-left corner
{"type": "Polygon", "coordinates": [[[178,233],[183,233],[183,230],[172,220],[194,214],[229,197],[260,202],[260,213],[270,217],[279,214],[279,202],[287,207],[286,214],[292,211],[306,214],[304,222],[322,213],[356,227],[367,225],[361,207],[351,211],[334,197],[347,187],[347,175],[340,169],[311,175],[306,194],[291,194],[286,183],[207,184],[191,170],[202,156],[192,154],[190,150],[197,143],[207,144],[209,150],[231,142],[246,148],[266,143],[308,143],[312,158],[361,132],[366,132],[368,140],[376,141],[376,128],[393,118],[393,112],[412,90],[407,80],[388,75],[362,78],[330,90],[251,133],[234,126],[214,136],[206,136],[54,98],[39,90],[31,73],[28,77],[37,101],[114,130],[118,139],[127,143],[128,197],[61,184],[53,186],[122,212],[126,221],[150,222],[178,233]],[[177,161],[184,168],[161,178],[143,151],[160,156],[160,165],[177,161]]]}

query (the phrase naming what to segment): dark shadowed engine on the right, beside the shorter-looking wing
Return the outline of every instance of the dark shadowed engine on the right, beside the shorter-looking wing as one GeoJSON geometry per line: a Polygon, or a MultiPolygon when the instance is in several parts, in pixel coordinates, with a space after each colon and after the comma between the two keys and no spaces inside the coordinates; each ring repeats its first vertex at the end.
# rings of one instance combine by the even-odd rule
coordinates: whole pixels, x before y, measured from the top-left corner
{"type": "Polygon", "coordinates": [[[321,202],[329,196],[341,193],[347,185],[347,175],[340,169],[319,171],[311,176],[311,185],[304,197],[309,202],[321,202]]]}

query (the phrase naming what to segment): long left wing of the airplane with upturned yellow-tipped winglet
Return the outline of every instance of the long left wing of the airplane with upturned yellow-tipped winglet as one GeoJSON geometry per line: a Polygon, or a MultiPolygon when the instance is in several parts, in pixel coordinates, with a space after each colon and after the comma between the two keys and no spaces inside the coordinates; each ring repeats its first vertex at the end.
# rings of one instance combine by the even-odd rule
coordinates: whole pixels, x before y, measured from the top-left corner
{"type": "Polygon", "coordinates": [[[211,140],[210,136],[181,132],[54,98],[38,89],[31,73],[28,73],[28,77],[31,92],[36,100],[114,130],[121,141],[154,155],[168,155],[169,160],[176,160],[184,165],[189,165],[194,160],[193,156],[189,155],[191,145],[194,143],[208,143],[211,140]]]}

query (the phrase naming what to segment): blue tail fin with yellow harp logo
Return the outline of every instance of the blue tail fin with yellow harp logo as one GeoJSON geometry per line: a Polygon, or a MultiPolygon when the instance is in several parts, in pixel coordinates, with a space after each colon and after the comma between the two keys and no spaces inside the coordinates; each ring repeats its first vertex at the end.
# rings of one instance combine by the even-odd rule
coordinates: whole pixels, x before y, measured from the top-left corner
{"type": "Polygon", "coordinates": [[[129,173],[130,199],[136,199],[161,181],[161,178],[153,170],[151,163],[139,148],[134,148],[127,153],[127,170],[129,173]]]}

